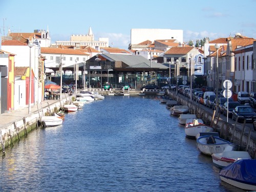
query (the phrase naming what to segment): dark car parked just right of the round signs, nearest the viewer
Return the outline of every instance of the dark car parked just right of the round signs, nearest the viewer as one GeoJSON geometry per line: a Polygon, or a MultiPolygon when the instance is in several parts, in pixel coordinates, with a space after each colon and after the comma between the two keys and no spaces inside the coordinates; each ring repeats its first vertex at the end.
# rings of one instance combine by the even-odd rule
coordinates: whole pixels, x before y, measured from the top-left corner
{"type": "Polygon", "coordinates": [[[253,122],[256,119],[256,113],[249,105],[236,106],[232,112],[232,119],[236,120],[237,117],[238,121],[246,119],[246,122],[253,122]]]}

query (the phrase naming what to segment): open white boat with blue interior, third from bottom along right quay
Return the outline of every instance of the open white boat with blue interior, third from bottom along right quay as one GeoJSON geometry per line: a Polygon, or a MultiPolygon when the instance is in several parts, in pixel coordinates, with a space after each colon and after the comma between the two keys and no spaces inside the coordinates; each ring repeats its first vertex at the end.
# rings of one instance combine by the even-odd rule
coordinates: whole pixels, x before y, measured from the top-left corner
{"type": "Polygon", "coordinates": [[[197,138],[197,146],[198,149],[205,155],[211,156],[212,154],[222,153],[224,152],[227,146],[232,146],[227,148],[231,150],[233,148],[233,143],[222,139],[220,137],[215,136],[202,136],[197,138]]]}

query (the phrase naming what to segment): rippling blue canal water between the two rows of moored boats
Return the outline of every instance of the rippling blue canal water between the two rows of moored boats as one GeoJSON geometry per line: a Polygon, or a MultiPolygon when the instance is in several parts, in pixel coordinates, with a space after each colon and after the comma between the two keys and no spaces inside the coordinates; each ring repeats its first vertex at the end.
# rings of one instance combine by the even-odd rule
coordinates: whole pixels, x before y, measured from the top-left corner
{"type": "Polygon", "coordinates": [[[0,160],[0,191],[243,191],[157,98],[106,96],[32,131],[0,160]]]}

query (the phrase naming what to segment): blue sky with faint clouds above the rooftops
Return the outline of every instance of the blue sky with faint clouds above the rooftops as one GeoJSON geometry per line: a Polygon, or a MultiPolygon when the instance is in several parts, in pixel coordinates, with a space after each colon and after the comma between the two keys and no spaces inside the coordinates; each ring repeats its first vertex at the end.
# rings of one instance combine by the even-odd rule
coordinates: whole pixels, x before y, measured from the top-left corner
{"type": "MultiPolygon", "coordinates": [[[[256,0],[0,0],[0,35],[47,29],[51,41],[87,34],[127,49],[131,29],[183,30],[183,41],[241,33],[256,39],[256,0]]],[[[147,40],[147,39],[145,39],[147,40]]]]}

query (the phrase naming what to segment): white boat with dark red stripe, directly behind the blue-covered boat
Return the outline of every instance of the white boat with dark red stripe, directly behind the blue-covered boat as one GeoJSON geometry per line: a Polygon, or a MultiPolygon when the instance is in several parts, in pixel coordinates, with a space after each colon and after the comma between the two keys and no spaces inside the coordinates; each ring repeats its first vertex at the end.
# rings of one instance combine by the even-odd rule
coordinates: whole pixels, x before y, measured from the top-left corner
{"type": "Polygon", "coordinates": [[[251,156],[248,152],[240,152],[240,151],[231,151],[229,149],[231,146],[227,146],[222,153],[214,153],[211,155],[212,162],[218,167],[226,167],[231,163],[239,160],[239,159],[251,159],[251,156]]]}

